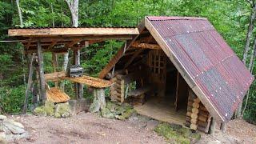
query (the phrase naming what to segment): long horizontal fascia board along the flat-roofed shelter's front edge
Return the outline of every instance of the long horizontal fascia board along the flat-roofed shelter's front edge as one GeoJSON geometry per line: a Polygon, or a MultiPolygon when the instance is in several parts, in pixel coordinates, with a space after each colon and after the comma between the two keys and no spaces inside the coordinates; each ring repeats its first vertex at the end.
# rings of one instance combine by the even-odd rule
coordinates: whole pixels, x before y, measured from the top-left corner
{"type": "Polygon", "coordinates": [[[35,28],[35,29],[9,29],[9,36],[53,36],[53,35],[122,35],[139,34],[138,28],[35,28]]]}

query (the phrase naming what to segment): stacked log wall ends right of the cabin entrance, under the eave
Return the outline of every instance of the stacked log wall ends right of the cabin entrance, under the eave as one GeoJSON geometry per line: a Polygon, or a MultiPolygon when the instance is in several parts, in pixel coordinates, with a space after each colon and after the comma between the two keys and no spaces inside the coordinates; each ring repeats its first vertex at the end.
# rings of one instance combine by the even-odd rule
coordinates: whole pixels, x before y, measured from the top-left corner
{"type": "Polygon", "coordinates": [[[208,133],[210,118],[211,116],[208,110],[206,110],[206,107],[202,105],[200,99],[190,90],[187,104],[186,126],[193,130],[208,133]]]}

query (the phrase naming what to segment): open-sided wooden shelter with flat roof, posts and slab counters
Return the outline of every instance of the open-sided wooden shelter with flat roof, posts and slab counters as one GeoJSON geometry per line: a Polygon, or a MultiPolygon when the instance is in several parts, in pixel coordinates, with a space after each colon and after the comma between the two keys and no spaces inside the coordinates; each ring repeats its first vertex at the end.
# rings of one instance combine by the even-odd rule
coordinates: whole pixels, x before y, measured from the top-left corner
{"type": "MultiPolygon", "coordinates": [[[[102,88],[112,84],[110,81],[90,76],[79,78],[70,78],[66,70],[57,71],[58,54],[68,54],[73,51],[74,65],[80,64],[80,50],[96,42],[102,42],[110,39],[129,41],[139,34],[138,29],[134,27],[55,27],[55,28],[14,28],[8,30],[10,37],[15,37],[25,47],[26,54],[30,55],[30,73],[26,97],[34,81],[38,81],[38,94],[45,102],[50,99],[54,102],[66,102],[69,96],[62,90],[59,90],[58,81],[69,80],[76,82],[75,94],[77,98],[82,98],[82,85],[92,86],[94,89],[103,91],[102,88]],[[50,52],[52,54],[52,64],[54,73],[45,74],[43,54],[50,52]],[[36,71],[37,80],[33,80],[33,72],[36,71]],[[47,88],[47,82],[55,82],[56,88],[47,88]],[[47,98],[46,98],[47,96],[47,98]]],[[[72,54],[72,53],[71,53],[72,54]]],[[[64,63],[63,65],[67,65],[64,63]]],[[[101,93],[102,94],[102,93],[101,93]]]]}

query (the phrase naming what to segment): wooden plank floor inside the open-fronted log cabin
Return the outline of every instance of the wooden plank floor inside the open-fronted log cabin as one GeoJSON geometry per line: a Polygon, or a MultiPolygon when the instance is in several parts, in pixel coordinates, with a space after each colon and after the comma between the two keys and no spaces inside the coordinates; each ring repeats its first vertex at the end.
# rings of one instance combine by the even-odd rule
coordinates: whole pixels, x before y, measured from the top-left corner
{"type": "Polygon", "coordinates": [[[144,105],[134,106],[134,109],[138,114],[146,115],[162,122],[170,122],[182,126],[185,126],[186,123],[186,110],[175,111],[174,102],[163,98],[150,98],[144,105]]]}

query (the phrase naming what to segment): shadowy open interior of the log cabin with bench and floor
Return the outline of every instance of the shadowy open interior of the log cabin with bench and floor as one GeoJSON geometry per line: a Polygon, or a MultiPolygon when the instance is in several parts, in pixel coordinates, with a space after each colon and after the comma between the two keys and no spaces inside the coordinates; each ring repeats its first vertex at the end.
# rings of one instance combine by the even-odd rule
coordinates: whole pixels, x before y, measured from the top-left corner
{"type": "Polygon", "coordinates": [[[140,114],[184,124],[188,99],[185,80],[151,35],[142,34],[138,41],[140,46],[134,42],[110,72],[117,83],[110,88],[111,99],[132,102],[140,114]]]}

